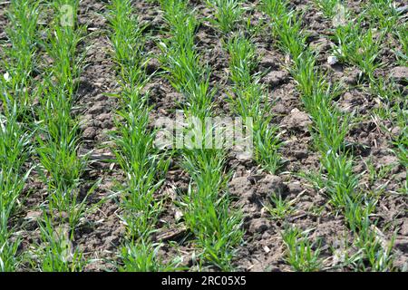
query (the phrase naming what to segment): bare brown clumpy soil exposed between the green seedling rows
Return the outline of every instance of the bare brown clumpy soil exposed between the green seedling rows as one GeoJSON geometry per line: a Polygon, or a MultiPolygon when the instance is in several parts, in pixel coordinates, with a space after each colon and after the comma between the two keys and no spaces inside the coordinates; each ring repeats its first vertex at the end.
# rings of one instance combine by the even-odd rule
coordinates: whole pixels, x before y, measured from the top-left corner
{"type": "MultiPolygon", "coordinates": [[[[256,4],[256,2],[254,2],[256,4]]],[[[254,5],[252,1],[248,6],[254,5]]],[[[332,81],[345,82],[345,92],[336,101],[337,106],[344,111],[354,112],[361,120],[353,125],[346,137],[347,143],[354,144],[355,171],[362,174],[360,188],[364,192],[380,192],[379,202],[373,218],[378,219],[376,227],[386,240],[391,240],[396,233],[393,247],[394,266],[403,269],[408,266],[408,199],[407,195],[399,194],[406,182],[406,168],[398,164],[393,154],[392,138],[397,129],[390,128],[393,124],[372,118],[378,100],[366,90],[366,84],[357,85],[359,71],[350,65],[330,66],[326,63],[331,53],[332,44],[328,39],[331,34],[331,22],[311,5],[313,1],[291,1],[296,9],[306,9],[304,25],[311,34],[312,45],[320,49],[319,65],[332,81]],[[388,128],[389,131],[385,131],[388,128]],[[390,170],[381,179],[371,180],[367,164],[372,162],[379,170],[389,166],[390,170]],[[382,188],[382,190],[379,190],[382,188]]],[[[82,123],[83,145],[81,152],[91,151],[90,169],[83,177],[86,190],[98,180],[99,185],[88,199],[88,206],[98,204],[107,198],[97,209],[93,210],[81,222],[75,232],[75,245],[84,251],[84,255],[92,259],[86,266],[87,271],[114,270],[115,261],[124,240],[125,227],[121,222],[121,209],[117,198],[110,198],[117,189],[117,184],[123,180],[123,172],[114,163],[109,147],[109,133],[114,131],[114,111],[117,102],[111,96],[118,91],[115,63],[112,62],[112,48],[109,43],[108,24],[103,14],[106,1],[81,1],[79,20],[87,25],[87,36],[83,43],[86,67],[80,79],[77,106],[73,115],[82,123]],[[110,161],[111,160],[111,161],[110,161]]],[[[210,17],[211,11],[203,5],[203,1],[194,1],[194,7],[200,19],[210,17]]],[[[135,12],[143,23],[148,24],[147,31],[153,40],[146,44],[146,50],[151,55],[158,55],[160,49],[156,39],[165,34],[165,24],[158,5],[151,1],[135,1],[135,12]]],[[[358,11],[361,4],[353,1],[352,7],[358,11]]],[[[264,17],[257,12],[248,12],[253,19],[264,17]]],[[[0,27],[5,23],[3,9],[0,9],[0,27]]],[[[197,32],[197,45],[202,59],[212,68],[211,85],[218,87],[216,95],[216,111],[220,115],[229,115],[231,111],[226,101],[226,92],[230,89],[228,81],[228,54],[223,50],[220,34],[205,20],[197,32]]],[[[0,40],[5,34],[0,31],[0,40]]],[[[234,171],[229,181],[229,190],[234,198],[234,207],[241,208],[244,214],[243,228],[245,243],[238,248],[238,256],[234,266],[242,271],[291,271],[285,260],[286,247],[281,238],[281,232],[287,225],[302,229],[312,229],[311,237],[320,241],[322,256],[325,258],[324,268],[333,270],[339,261],[337,253],[345,246],[350,246],[352,233],[345,225],[345,218],[335,214],[327,204],[324,192],[316,190],[310,182],[299,176],[301,172],[318,172],[320,168],[319,154],[311,137],[312,121],[296,91],[296,82],[287,72],[287,56],[277,50],[276,40],[267,29],[254,39],[257,52],[261,55],[257,72],[264,73],[261,82],[269,91],[270,102],[273,103],[273,122],[282,129],[284,145],[281,153],[285,166],[277,175],[262,171],[248,160],[238,160],[231,156],[228,168],[234,171]],[[270,218],[264,205],[271,194],[294,200],[294,212],[284,220],[270,218]]],[[[391,48],[389,48],[391,49],[391,48]]],[[[407,77],[407,68],[394,64],[393,53],[384,53],[387,65],[384,75],[393,76],[402,85],[407,77]]],[[[154,57],[148,65],[148,72],[160,72],[160,63],[154,57]]],[[[153,111],[151,118],[171,117],[179,108],[182,96],[176,92],[162,74],[156,74],[147,85],[151,93],[153,111]]],[[[165,201],[164,210],[160,216],[158,232],[153,239],[162,243],[160,257],[170,261],[175,256],[182,256],[182,266],[195,269],[194,256],[197,251],[188,231],[186,231],[180,209],[174,205],[174,200],[180,198],[180,193],[186,192],[189,177],[172,162],[165,183],[157,192],[157,198],[165,201]]],[[[38,226],[35,219],[41,215],[36,208],[44,202],[44,185],[34,175],[27,185],[27,198],[24,205],[13,219],[18,225],[23,237],[22,251],[32,249],[38,242],[38,226]]],[[[26,266],[24,270],[30,270],[26,266]]],[[[213,270],[209,268],[209,270],[213,270]]],[[[339,267],[339,271],[347,271],[339,267]]]]}

